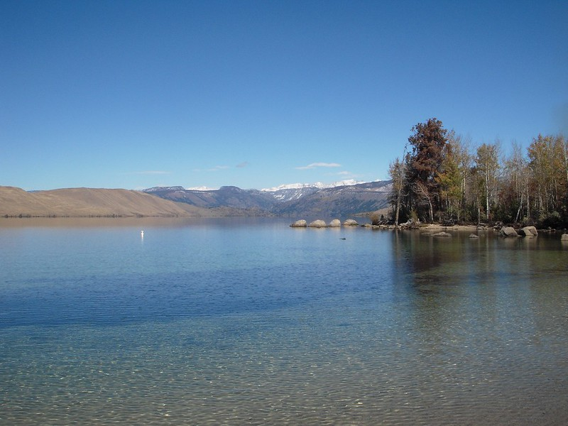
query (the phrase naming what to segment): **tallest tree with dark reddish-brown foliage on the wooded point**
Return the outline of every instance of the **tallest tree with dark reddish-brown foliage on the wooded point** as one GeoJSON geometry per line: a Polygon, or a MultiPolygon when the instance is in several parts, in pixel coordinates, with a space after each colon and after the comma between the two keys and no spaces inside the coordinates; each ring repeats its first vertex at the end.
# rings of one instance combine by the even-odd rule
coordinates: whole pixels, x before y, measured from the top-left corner
{"type": "Polygon", "coordinates": [[[412,152],[406,155],[407,182],[410,205],[428,207],[430,222],[434,222],[434,204],[440,204],[437,175],[446,151],[446,129],[442,121],[432,118],[413,126],[408,138],[412,152]],[[427,203],[425,203],[427,201],[427,203]]]}

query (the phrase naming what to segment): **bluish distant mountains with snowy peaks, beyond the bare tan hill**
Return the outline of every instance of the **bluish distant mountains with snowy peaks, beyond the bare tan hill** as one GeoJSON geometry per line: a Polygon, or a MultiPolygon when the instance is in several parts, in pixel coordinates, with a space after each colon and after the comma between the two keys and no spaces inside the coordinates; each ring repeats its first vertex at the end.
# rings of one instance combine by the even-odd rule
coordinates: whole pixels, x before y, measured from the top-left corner
{"type": "Polygon", "coordinates": [[[152,187],[143,192],[195,207],[245,209],[254,216],[347,217],[388,207],[391,190],[391,181],[383,180],[281,185],[264,190],[241,190],[234,186],[218,190],[152,187]]]}

